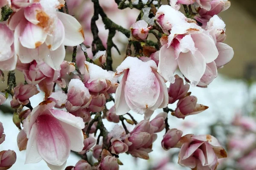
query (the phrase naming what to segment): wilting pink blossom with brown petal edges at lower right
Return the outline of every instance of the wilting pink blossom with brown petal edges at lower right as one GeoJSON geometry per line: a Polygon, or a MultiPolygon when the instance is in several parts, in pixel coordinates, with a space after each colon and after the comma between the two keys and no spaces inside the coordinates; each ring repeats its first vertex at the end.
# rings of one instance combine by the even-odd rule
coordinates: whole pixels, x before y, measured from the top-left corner
{"type": "Polygon", "coordinates": [[[215,170],[218,159],[227,157],[226,151],[211,135],[188,134],[175,147],[181,148],[178,163],[191,169],[215,170]]]}

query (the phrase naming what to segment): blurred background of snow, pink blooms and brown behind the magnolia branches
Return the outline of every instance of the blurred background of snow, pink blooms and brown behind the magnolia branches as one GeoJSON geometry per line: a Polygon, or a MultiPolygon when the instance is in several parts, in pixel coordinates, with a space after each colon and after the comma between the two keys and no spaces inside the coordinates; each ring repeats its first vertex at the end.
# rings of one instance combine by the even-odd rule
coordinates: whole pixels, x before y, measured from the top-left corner
{"type": "MultiPolygon", "coordinates": [[[[90,0],[66,0],[70,13],[82,23],[86,36],[85,44],[91,45],[90,18],[93,15],[93,7],[90,0]],[[79,2],[78,5],[75,2],[79,2]],[[81,5],[85,4],[86,5],[81,5]]],[[[197,96],[198,103],[209,106],[207,111],[195,116],[188,116],[180,120],[169,115],[171,128],[183,130],[183,134],[212,134],[228,151],[228,158],[219,162],[219,170],[256,170],[256,1],[255,0],[230,0],[228,10],[221,12],[219,16],[226,23],[227,39],[225,43],[233,47],[235,55],[224,68],[218,69],[218,77],[208,88],[190,88],[193,95],[197,96]]],[[[130,28],[135,22],[139,11],[136,9],[119,10],[114,0],[100,0],[109,18],[125,28],[130,28]]],[[[108,31],[104,24],[97,22],[102,42],[106,42],[108,31]]],[[[116,33],[114,42],[122,51],[120,56],[115,49],[113,52],[113,68],[116,68],[124,58],[127,47],[127,39],[121,33],[116,33]]],[[[92,57],[90,49],[87,51],[92,57]]],[[[79,54],[79,53],[78,53],[79,54]]],[[[83,55],[82,53],[79,55],[83,55]]],[[[67,59],[69,59],[69,54],[67,59]]],[[[7,73],[6,79],[7,79],[7,73]]],[[[24,82],[23,74],[16,71],[17,82],[24,82]]],[[[6,88],[6,81],[0,82],[0,89],[6,88]]],[[[33,97],[32,106],[35,107],[43,98],[41,94],[33,97]]],[[[113,104],[109,104],[113,105],[113,104]]],[[[169,107],[175,109],[176,105],[169,107]]],[[[109,106],[110,107],[110,106],[109,106]]],[[[13,149],[17,152],[16,164],[11,170],[45,170],[44,162],[35,165],[23,165],[25,152],[19,152],[15,146],[18,129],[12,124],[11,114],[6,107],[0,107],[0,121],[3,122],[6,132],[6,140],[0,145],[0,150],[13,149]],[[12,134],[12,136],[9,136],[12,134]]],[[[162,110],[156,111],[152,117],[162,110]]],[[[138,120],[143,117],[137,116],[138,120]]],[[[111,130],[113,125],[107,125],[111,130]]],[[[132,128],[132,127],[131,127],[132,128]]],[[[128,155],[120,156],[124,163],[121,170],[185,170],[177,164],[177,151],[163,151],[161,140],[163,133],[158,134],[158,139],[153,144],[153,152],[150,160],[134,159],[128,155]],[[131,164],[131,162],[133,162],[131,164]],[[143,166],[141,166],[143,164],[143,166]]],[[[72,155],[67,165],[74,165],[79,157],[72,155]]]]}

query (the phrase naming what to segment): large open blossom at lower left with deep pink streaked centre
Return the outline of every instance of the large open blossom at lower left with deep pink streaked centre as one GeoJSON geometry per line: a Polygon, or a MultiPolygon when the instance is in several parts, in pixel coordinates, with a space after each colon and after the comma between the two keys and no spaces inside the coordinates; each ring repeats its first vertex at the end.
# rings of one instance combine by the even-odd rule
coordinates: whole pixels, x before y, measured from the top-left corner
{"type": "Polygon", "coordinates": [[[44,159],[52,170],[64,169],[70,150],[83,149],[83,120],[54,106],[52,101],[41,102],[23,122],[29,139],[26,164],[44,159]]]}

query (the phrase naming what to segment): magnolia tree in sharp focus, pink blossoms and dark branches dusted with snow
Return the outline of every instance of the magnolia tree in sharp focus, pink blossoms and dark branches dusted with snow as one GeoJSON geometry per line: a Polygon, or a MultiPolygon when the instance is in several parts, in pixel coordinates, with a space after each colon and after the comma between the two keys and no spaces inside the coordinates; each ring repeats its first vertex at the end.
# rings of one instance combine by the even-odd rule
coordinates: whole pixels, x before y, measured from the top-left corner
{"type": "MultiPolygon", "coordinates": [[[[118,170],[119,154],[150,159],[162,130],[163,149],[180,148],[183,167],[215,170],[218,159],[227,157],[214,136],[169,129],[167,116],[184,119],[208,108],[188,91],[190,85],[206,88],[233,58],[217,15],[229,1],[0,0],[0,7],[2,78],[9,71],[0,104],[12,96],[24,163],[44,160],[52,170],[118,170]],[[116,72],[114,56],[125,57],[116,72]],[[178,68],[185,81],[175,75],[178,68]],[[24,83],[16,83],[15,71],[23,73],[24,83]],[[29,99],[40,91],[44,98],[33,108],[29,99]],[[169,108],[173,103],[177,107],[169,108]],[[158,108],[163,112],[151,119],[158,108]],[[134,114],[144,120],[137,122],[134,114]],[[113,130],[104,119],[116,124],[113,130]],[[66,167],[70,151],[81,160],[66,167]],[[88,159],[91,151],[97,161],[88,159]]],[[[9,135],[3,131],[0,123],[0,144],[9,135]]],[[[1,170],[15,161],[14,151],[0,152],[1,170]]]]}

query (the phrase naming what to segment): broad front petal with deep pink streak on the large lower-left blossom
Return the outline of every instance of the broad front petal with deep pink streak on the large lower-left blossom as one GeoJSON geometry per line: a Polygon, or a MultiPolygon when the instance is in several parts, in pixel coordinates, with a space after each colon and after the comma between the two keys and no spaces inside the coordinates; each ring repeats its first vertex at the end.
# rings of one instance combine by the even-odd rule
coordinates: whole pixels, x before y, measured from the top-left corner
{"type": "Polygon", "coordinates": [[[51,115],[38,116],[38,152],[49,164],[61,166],[70,155],[70,139],[60,122],[51,115]]]}

